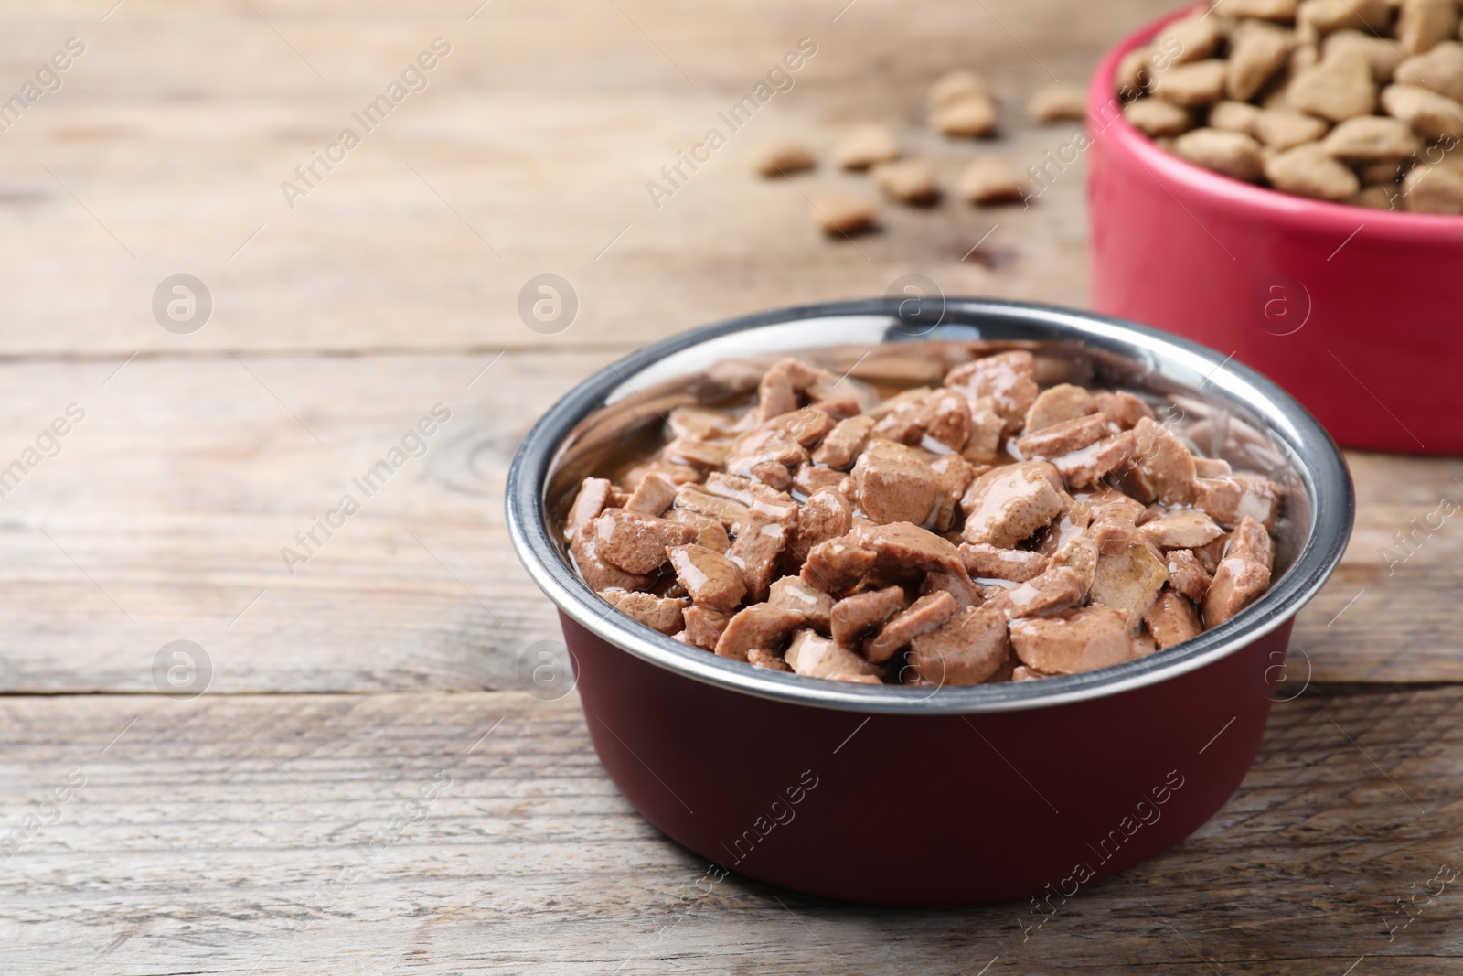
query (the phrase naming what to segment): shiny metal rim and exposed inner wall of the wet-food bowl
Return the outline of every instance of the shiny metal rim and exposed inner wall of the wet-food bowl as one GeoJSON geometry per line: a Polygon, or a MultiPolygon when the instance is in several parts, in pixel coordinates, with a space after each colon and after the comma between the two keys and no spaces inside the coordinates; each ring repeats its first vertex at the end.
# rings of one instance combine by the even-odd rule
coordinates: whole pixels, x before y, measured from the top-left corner
{"type": "Polygon", "coordinates": [[[1296,613],[1346,549],[1355,499],[1346,464],[1321,426],[1279,386],[1213,350],[1105,316],[1018,301],[948,299],[911,312],[895,300],[840,301],[733,319],[657,342],[604,369],[554,404],[524,439],[508,476],[508,525],[534,582],[571,619],[629,654],[696,680],[803,705],[951,714],[1040,708],[1110,695],[1201,667],[1296,613]],[[736,382],[718,363],[796,354],[844,373],[898,344],[958,341],[1028,348],[1046,382],[1088,382],[1151,394],[1170,426],[1236,471],[1289,487],[1276,527],[1270,590],[1184,644],[1083,675],[949,688],[872,686],[771,672],[717,657],[636,623],[575,574],[560,538],[579,481],[654,443],[673,407],[720,402],[736,382]]]}

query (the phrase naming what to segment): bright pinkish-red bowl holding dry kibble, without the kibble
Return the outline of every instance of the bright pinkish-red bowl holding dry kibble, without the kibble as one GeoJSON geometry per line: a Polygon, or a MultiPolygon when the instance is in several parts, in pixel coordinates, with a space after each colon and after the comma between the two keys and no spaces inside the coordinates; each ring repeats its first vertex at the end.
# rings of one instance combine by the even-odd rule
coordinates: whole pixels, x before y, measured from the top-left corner
{"type": "Polygon", "coordinates": [[[1463,217],[1290,196],[1129,126],[1118,61],[1194,9],[1125,40],[1093,78],[1093,307],[1233,354],[1349,448],[1463,454],[1463,217]]]}

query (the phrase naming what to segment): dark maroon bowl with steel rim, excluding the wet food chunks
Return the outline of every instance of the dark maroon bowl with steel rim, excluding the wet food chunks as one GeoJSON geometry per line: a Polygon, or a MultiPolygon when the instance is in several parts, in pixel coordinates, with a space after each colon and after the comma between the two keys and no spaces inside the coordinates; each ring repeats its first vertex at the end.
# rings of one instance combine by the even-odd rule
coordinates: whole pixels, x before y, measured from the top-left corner
{"type": "Polygon", "coordinates": [[[673,337],[591,376],[514,459],[514,547],[560,610],[600,761],[673,840],[729,871],[850,901],[1068,897],[1172,847],[1239,786],[1292,620],[1346,547],[1350,477],[1279,386],[1186,339],[1015,301],[951,299],[919,328],[898,315],[888,300],[771,312],[673,337]],[[929,689],[721,658],[612,610],[575,575],[557,530],[566,499],[584,476],[642,449],[670,408],[705,397],[710,366],[796,351],[850,369],[914,334],[1024,345],[1068,375],[1165,397],[1203,452],[1289,484],[1270,591],[1141,660],[929,689]]]}

